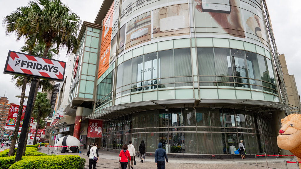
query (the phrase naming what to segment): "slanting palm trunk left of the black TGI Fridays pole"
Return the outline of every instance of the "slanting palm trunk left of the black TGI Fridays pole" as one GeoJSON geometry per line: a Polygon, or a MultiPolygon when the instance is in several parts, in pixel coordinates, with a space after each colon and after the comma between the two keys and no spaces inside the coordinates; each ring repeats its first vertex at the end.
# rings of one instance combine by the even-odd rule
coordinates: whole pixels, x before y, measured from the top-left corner
{"type": "Polygon", "coordinates": [[[23,110],[23,103],[24,103],[24,97],[25,97],[25,90],[26,90],[26,82],[27,82],[27,77],[23,78],[23,84],[22,84],[22,92],[21,92],[21,98],[20,98],[20,106],[18,110],[18,116],[15,124],[15,129],[14,129],[14,134],[13,138],[11,141],[11,146],[9,148],[9,152],[7,156],[14,155],[14,149],[17,141],[17,136],[19,132],[19,127],[20,127],[20,121],[21,121],[21,116],[22,116],[22,110],[23,110]]]}

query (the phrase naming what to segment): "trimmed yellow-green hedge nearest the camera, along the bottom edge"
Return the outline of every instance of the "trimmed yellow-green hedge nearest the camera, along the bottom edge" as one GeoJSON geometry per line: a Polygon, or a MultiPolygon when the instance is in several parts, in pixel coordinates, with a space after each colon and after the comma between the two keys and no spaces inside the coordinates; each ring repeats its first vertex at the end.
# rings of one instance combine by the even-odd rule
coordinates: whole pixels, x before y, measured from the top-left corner
{"type": "Polygon", "coordinates": [[[14,163],[9,169],[83,169],[85,162],[78,155],[31,156],[14,163]]]}

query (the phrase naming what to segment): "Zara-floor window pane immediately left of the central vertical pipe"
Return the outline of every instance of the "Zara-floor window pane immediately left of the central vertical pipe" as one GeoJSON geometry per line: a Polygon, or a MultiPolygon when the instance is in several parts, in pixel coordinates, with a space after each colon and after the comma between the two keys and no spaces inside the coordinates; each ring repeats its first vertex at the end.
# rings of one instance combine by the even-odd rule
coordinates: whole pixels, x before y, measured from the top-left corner
{"type": "Polygon", "coordinates": [[[191,76],[190,48],[175,50],[175,76],[191,76]]]}

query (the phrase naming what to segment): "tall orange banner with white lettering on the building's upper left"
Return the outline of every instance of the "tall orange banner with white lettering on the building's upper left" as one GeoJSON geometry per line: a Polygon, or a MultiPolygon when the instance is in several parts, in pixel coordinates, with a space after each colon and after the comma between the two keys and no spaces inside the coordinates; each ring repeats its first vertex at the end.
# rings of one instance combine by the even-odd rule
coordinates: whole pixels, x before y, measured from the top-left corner
{"type": "Polygon", "coordinates": [[[111,5],[106,17],[104,18],[104,26],[102,29],[100,59],[98,66],[98,78],[109,68],[110,49],[111,49],[111,35],[113,23],[113,7],[111,5]]]}

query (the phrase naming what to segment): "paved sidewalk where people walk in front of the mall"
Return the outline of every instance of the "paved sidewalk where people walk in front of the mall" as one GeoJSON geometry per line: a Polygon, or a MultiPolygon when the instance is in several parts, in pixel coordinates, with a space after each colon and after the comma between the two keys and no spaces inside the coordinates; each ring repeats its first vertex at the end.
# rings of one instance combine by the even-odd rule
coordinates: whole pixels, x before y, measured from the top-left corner
{"type": "MultiPolygon", "coordinates": [[[[54,150],[53,147],[49,147],[49,153],[51,150],[54,150]]],[[[79,155],[81,158],[86,159],[85,168],[89,167],[88,163],[88,150],[83,150],[82,153],[56,153],[56,155],[79,155]]],[[[42,150],[39,152],[48,153],[48,147],[42,147],[42,150]]],[[[96,165],[96,168],[119,168],[119,152],[107,152],[102,149],[99,149],[99,161],[96,165]]],[[[222,169],[257,169],[255,158],[247,159],[204,159],[204,158],[169,158],[168,163],[165,165],[166,169],[199,169],[199,168],[222,168],[222,169]]],[[[296,158],[276,158],[274,156],[268,157],[268,168],[266,166],[265,158],[257,158],[258,169],[284,169],[286,161],[296,161],[296,158]]],[[[136,156],[137,165],[133,166],[134,169],[157,169],[155,164],[155,158],[146,156],[144,163],[140,163],[139,158],[136,156]]],[[[288,168],[296,169],[296,164],[288,163],[288,168]]]]}

